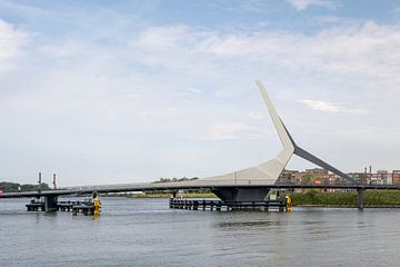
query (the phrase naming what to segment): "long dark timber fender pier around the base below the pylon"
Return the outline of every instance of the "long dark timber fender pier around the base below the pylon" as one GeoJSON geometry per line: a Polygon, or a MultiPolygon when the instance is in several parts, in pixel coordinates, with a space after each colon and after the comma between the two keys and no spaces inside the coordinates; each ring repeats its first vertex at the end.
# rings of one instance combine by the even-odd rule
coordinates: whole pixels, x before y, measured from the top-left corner
{"type": "Polygon", "coordinates": [[[264,211],[291,211],[291,201],[286,199],[269,201],[221,201],[221,200],[188,200],[170,198],[169,207],[172,209],[191,209],[191,210],[264,210],[264,211]]]}

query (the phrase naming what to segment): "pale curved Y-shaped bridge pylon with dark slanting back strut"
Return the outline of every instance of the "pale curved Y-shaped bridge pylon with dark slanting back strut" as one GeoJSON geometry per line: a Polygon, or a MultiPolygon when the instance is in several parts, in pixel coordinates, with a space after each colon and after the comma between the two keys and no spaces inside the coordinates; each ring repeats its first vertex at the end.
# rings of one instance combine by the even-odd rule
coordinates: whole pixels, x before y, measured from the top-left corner
{"type": "Polygon", "coordinates": [[[256,167],[233,171],[227,175],[214,176],[210,178],[203,178],[196,180],[194,182],[204,182],[204,184],[213,184],[218,185],[237,185],[237,186],[262,186],[262,185],[273,185],[278,180],[279,176],[283,171],[288,161],[292,157],[292,155],[297,155],[319,167],[322,167],[351,182],[356,182],[356,180],[349,175],[338,170],[326,161],[317,158],[304,149],[300,148],[290,136],[289,131],[284,127],[282,120],[278,116],[271,99],[268,97],[267,90],[261,83],[261,81],[256,81],[258,88],[261,91],[262,98],[267,105],[268,111],[274,125],[274,128],[278,132],[278,136],[282,142],[283,149],[277,155],[276,158],[262,162],[256,167]]]}

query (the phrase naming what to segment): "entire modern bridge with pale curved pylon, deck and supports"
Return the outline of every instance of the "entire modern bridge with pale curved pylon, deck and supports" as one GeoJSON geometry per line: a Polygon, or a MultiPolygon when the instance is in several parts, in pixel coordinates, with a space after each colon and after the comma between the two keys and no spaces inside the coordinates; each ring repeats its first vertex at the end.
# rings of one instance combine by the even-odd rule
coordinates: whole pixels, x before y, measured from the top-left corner
{"type": "Polygon", "coordinates": [[[44,198],[46,210],[52,210],[57,207],[59,196],[82,195],[97,192],[128,192],[128,191],[151,191],[168,190],[177,191],[180,189],[207,189],[216,194],[222,201],[263,201],[271,189],[352,189],[359,195],[358,206],[363,208],[363,192],[367,189],[400,189],[400,185],[360,185],[343,171],[323,161],[317,156],[310,154],[306,149],[294,142],[288,129],[278,116],[272,101],[270,100],[266,88],[260,81],[257,81],[262,98],[266,102],[269,115],[272,119],[274,128],[282,144],[282,150],[271,160],[262,162],[258,166],[247,169],[233,171],[226,175],[202,178],[196,180],[176,181],[176,182],[141,182],[126,185],[108,185],[108,186],[86,186],[71,187],[48,191],[23,191],[8,192],[0,195],[0,198],[44,198]],[[277,180],[290,158],[297,155],[321,168],[324,168],[346,181],[344,185],[292,185],[278,184],[277,180]]]}

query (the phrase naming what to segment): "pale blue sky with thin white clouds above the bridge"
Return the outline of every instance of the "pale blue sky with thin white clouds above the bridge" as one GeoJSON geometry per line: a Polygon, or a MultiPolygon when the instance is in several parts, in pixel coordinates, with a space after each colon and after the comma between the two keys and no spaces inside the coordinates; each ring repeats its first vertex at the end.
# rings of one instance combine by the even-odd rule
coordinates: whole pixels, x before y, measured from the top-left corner
{"type": "Polygon", "coordinates": [[[0,180],[258,165],[281,145],[256,79],[304,149],[400,169],[399,62],[399,1],[0,0],[0,180]]]}

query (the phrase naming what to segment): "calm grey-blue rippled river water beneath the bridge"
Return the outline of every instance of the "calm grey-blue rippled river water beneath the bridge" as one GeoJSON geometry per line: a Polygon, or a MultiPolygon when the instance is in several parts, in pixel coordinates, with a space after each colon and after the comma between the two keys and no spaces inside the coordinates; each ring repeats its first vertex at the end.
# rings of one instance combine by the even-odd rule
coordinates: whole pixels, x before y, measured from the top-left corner
{"type": "Polygon", "coordinates": [[[399,266],[400,209],[171,210],[102,198],[102,214],[0,200],[0,266],[399,266]]]}

